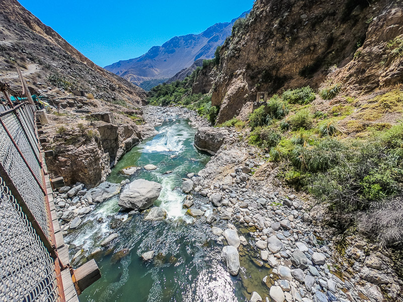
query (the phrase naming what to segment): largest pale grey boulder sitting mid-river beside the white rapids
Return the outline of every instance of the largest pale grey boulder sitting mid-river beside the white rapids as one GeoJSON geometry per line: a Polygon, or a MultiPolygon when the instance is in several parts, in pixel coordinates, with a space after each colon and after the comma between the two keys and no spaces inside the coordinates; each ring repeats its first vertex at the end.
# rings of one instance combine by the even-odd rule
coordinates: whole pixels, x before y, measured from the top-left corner
{"type": "Polygon", "coordinates": [[[157,182],[137,179],[123,190],[118,204],[127,209],[145,210],[160,196],[161,188],[157,182]]]}

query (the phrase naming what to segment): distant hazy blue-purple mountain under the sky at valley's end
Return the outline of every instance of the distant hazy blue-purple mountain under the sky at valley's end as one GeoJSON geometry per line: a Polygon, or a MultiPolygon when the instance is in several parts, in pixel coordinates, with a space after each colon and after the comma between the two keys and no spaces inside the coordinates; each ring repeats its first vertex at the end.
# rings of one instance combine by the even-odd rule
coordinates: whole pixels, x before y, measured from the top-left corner
{"type": "Polygon", "coordinates": [[[162,46],[152,47],[138,58],[118,61],[105,69],[136,85],[147,80],[171,78],[197,59],[213,58],[217,46],[222,45],[231,34],[235,21],[248,13],[231,22],[217,23],[198,35],[174,37],[162,46]]]}

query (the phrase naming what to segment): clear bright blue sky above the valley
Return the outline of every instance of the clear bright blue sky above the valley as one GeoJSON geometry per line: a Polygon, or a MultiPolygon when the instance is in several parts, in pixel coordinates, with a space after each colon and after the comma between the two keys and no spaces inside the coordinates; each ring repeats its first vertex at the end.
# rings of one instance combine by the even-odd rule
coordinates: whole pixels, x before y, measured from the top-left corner
{"type": "Polygon", "coordinates": [[[19,1],[100,66],[138,57],[174,36],[229,22],[253,5],[253,0],[19,1]]]}

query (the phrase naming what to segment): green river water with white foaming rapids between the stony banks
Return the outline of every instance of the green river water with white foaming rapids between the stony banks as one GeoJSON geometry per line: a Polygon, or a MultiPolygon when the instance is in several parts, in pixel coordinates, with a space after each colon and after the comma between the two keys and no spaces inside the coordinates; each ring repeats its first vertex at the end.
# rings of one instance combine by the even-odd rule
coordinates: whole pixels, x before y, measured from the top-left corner
{"type": "MultiPolygon", "coordinates": [[[[222,244],[216,242],[211,225],[205,217],[195,219],[186,215],[182,208],[186,197],[181,191],[182,178],[188,173],[197,174],[210,156],[193,146],[196,130],[186,119],[170,117],[156,130],[158,135],[144,140],[119,161],[107,181],[120,183],[143,178],[161,183],[162,191],[155,205],[167,210],[167,219],[144,221],[141,213],[129,216],[127,212],[119,212],[118,196],[97,205],[82,225],[65,237],[71,257],[79,254],[73,265],[77,267],[91,259],[89,255],[109,234],[117,233],[118,239],[94,256],[102,278],[87,288],[80,300],[246,301],[242,281],[249,276],[245,275],[245,269],[232,277],[221,260],[222,244]],[[122,174],[124,168],[148,164],[158,168],[140,169],[130,177],[122,174]],[[165,174],[169,171],[172,172],[165,174]],[[153,261],[144,262],[141,254],[150,250],[156,256],[153,261]]],[[[212,212],[206,197],[195,194],[194,203],[206,211],[206,216],[212,212]]],[[[217,226],[226,229],[224,221],[217,226]]],[[[251,262],[240,253],[244,255],[241,266],[247,267],[251,262]]],[[[267,269],[256,273],[258,283],[264,275],[267,269]]]]}

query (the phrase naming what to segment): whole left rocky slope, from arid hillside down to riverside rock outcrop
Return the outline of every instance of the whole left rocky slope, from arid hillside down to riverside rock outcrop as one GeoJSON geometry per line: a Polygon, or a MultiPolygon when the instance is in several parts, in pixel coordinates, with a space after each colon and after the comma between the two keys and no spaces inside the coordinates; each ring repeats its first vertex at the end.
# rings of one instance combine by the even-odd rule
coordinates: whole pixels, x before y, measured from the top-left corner
{"type": "Polygon", "coordinates": [[[0,79],[21,91],[19,66],[31,93],[51,105],[40,132],[52,152],[51,177],[96,186],[127,150],[155,133],[141,117],[145,91],[94,64],[17,1],[2,1],[0,12],[0,79]]]}

